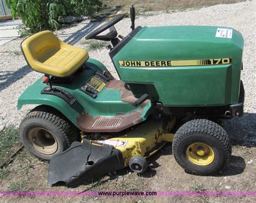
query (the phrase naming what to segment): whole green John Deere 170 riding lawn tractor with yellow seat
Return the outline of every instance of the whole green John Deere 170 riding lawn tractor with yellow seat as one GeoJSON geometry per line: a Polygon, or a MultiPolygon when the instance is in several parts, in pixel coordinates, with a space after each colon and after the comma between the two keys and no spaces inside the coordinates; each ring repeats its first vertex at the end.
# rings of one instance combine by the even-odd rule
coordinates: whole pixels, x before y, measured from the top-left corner
{"type": "Polygon", "coordinates": [[[212,120],[243,113],[241,33],[217,26],[134,28],[132,7],[132,31],[123,37],[114,24],[124,17],[85,37],[110,42],[120,80],[50,31],[21,44],[28,65],[43,73],[18,99],[18,109],[38,105],[23,119],[21,139],[50,160],[50,185],[73,187],[126,166],[142,174],[146,158],[167,142],[188,173],[210,175],[228,164],[230,140],[212,120]]]}

